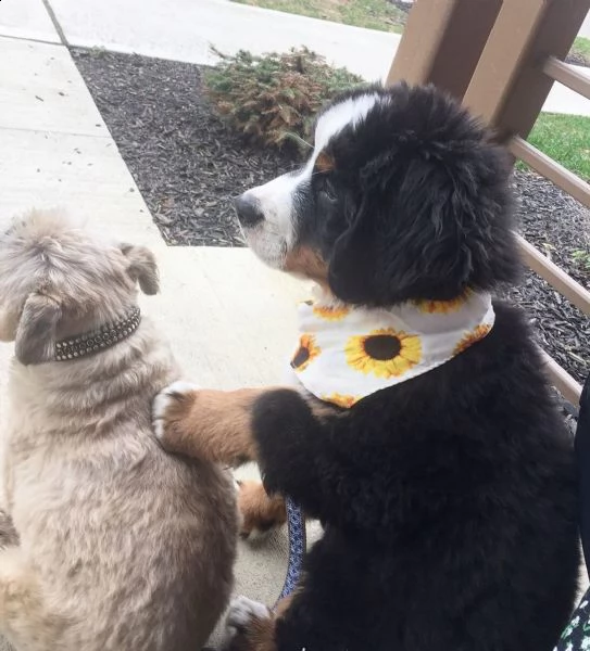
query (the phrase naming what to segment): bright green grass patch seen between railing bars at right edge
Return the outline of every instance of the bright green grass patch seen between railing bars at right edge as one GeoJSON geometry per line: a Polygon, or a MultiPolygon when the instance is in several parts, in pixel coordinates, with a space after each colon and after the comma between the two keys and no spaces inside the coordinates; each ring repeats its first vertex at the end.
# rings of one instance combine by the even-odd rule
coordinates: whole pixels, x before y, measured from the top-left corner
{"type": "Polygon", "coordinates": [[[541,113],[528,141],[583,180],[590,181],[590,117],[541,113]]]}

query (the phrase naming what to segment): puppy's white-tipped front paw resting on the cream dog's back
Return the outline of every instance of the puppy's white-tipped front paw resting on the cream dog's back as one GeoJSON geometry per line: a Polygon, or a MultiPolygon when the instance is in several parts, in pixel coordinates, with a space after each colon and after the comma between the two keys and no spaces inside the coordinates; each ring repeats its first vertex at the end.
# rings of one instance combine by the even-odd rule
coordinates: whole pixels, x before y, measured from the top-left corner
{"type": "Polygon", "coordinates": [[[199,386],[181,380],[162,390],[152,404],[152,425],[158,441],[172,451],[181,450],[181,441],[199,386]]]}

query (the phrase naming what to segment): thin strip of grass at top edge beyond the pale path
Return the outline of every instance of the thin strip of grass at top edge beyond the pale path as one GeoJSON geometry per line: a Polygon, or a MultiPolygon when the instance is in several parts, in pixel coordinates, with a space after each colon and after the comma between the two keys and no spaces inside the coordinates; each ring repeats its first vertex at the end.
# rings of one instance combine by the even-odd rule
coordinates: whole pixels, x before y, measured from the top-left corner
{"type": "Polygon", "coordinates": [[[381,31],[403,31],[405,14],[387,0],[235,0],[241,4],[264,7],[381,31]]]}

